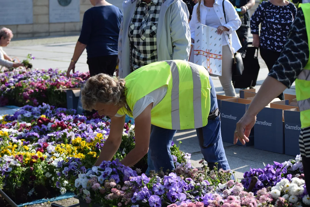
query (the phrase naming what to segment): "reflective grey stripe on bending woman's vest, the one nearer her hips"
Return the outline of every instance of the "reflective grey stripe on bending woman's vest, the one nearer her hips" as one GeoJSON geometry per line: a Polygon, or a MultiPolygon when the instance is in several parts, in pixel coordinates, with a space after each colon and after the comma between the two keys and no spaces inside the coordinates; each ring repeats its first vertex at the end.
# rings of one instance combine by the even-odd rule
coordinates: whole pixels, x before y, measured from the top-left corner
{"type": "Polygon", "coordinates": [[[193,106],[195,129],[202,127],[202,112],[201,112],[201,82],[197,65],[188,62],[193,74],[193,106]]]}

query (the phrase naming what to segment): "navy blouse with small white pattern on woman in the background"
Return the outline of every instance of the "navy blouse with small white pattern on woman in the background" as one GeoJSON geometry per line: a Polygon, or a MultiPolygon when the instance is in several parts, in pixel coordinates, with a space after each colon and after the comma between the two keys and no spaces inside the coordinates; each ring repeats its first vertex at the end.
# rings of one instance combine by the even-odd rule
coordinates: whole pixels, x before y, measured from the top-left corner
{"type": "Polygon", "coordinates": [[[251,33],[259,34],[260,47],[281,52],[293,23],[297,9],[293,3],[275,6],[269,1],[262,2],[251,17],[251,33]]]}

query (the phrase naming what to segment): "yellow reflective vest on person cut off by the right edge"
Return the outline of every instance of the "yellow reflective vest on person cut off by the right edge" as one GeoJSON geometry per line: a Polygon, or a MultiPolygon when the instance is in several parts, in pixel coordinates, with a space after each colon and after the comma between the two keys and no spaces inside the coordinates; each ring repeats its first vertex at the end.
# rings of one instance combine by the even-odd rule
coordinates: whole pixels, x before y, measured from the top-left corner
{"type": "MultiPolygon", "coordinates": [[[[301,5],[306,21],[308,45],[310,50],[310,3],[301,5]]],[[[310,127],[310,61],[301,71],[296,84],[296,98],[300,110],[301,128],[310,127]]]]}

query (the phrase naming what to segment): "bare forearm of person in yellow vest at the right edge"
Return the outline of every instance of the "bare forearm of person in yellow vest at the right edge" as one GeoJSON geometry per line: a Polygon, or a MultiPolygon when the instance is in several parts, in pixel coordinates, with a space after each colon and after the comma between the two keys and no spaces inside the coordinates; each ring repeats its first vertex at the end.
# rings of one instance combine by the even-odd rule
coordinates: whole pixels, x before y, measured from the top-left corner
{"type": "Polygon", "coordinates": [[[263,82],[258,93],[255,95],[253,101],[251,102],[249,109],[246,114],[256,116],[259,111],[266,107],[273,99],[279,96],[286,86],[283,85],[278,80],[267,76],[266,80],[263,82]]]}

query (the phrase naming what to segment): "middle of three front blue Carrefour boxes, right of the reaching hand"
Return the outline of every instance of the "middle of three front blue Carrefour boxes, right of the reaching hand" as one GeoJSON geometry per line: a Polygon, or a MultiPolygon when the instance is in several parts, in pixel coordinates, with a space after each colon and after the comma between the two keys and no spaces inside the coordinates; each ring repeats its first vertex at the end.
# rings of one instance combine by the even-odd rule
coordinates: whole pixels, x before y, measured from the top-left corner
{"type": "Polygon", "coordinates": [[[286,106],[270,103],[256,117],[254,125],[254,148],[284,154],[284,116],[283,111],[294,109],[295,106],[286,106]]]}

